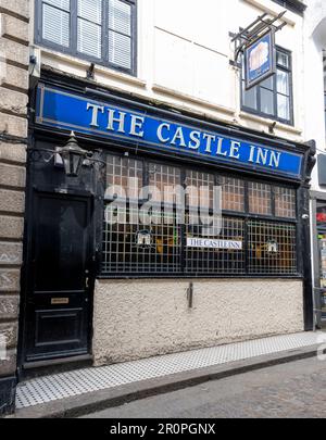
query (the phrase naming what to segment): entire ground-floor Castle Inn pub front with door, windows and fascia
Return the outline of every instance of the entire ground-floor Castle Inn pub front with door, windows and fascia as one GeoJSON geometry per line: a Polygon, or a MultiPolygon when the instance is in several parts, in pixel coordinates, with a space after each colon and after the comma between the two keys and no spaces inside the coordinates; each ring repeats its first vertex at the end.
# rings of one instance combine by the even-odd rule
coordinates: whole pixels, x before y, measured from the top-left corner
{"type": "Polygon", "coordinates": [[[309,146],[49,74],[34,109],[23,369],[312,329],[309,146]]]}

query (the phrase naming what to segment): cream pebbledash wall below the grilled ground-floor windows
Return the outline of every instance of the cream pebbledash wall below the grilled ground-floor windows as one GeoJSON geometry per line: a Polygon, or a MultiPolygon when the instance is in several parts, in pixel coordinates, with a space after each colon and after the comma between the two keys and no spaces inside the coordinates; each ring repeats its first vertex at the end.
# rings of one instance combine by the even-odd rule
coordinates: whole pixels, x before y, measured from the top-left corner
{"type": "Polygon", "coordinates": [[[101,280],[95,293],[96,365],[302,331],[300,280],[101,280]]]}

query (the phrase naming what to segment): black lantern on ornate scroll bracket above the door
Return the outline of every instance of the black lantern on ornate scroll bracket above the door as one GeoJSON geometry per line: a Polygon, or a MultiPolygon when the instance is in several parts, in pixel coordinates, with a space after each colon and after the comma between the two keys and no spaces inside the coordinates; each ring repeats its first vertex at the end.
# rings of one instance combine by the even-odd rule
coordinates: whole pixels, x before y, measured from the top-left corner
{"type": "MultiPolygon", "coordinates": [[[[67,177],[78,177],[83,165],[91,166],[96,163],[104,166],[105,162],[98,159],[101,154],[100,150],[95,152],[83,150],[79,147],[75,133],[72,131],[71,136],[64,147],[57,147],[55,151],[42,148],[32,148],[29,151],[29,159],[33,162],[40,162],[41,160],[49,163],[53,158],[60,158],[67,177]]],[[[59,161],[57,160],[58,164],[59,161]]]]}

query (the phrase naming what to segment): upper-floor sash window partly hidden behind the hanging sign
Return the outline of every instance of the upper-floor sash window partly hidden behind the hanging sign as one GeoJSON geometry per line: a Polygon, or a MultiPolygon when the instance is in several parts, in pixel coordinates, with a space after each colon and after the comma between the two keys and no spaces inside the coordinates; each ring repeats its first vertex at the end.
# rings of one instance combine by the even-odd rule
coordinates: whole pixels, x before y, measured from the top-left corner
{"type": "Polygon", "coordinates": [[[285,124],[293,124],[292,109],[292,66],[290,52],[277,49],[277,71],[250,90],[244,88],[242,68],[242,109],[285,124]]]}

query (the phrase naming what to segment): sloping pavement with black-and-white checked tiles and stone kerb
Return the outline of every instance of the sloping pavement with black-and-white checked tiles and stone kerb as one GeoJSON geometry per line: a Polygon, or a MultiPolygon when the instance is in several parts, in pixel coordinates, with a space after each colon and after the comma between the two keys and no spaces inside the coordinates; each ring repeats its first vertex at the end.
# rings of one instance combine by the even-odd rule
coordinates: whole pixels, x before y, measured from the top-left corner
{"type": "MultiPolygon", "coordinates": [[[[325,334],[318,332],[273,336],[49,375],[18,385],[17,411],[12,417],[68,418],[98,414],[151,397],[316,357],[323,341],[325,334]]],[[[324,367],[323,362],[317,365],[324,367]]]]}

